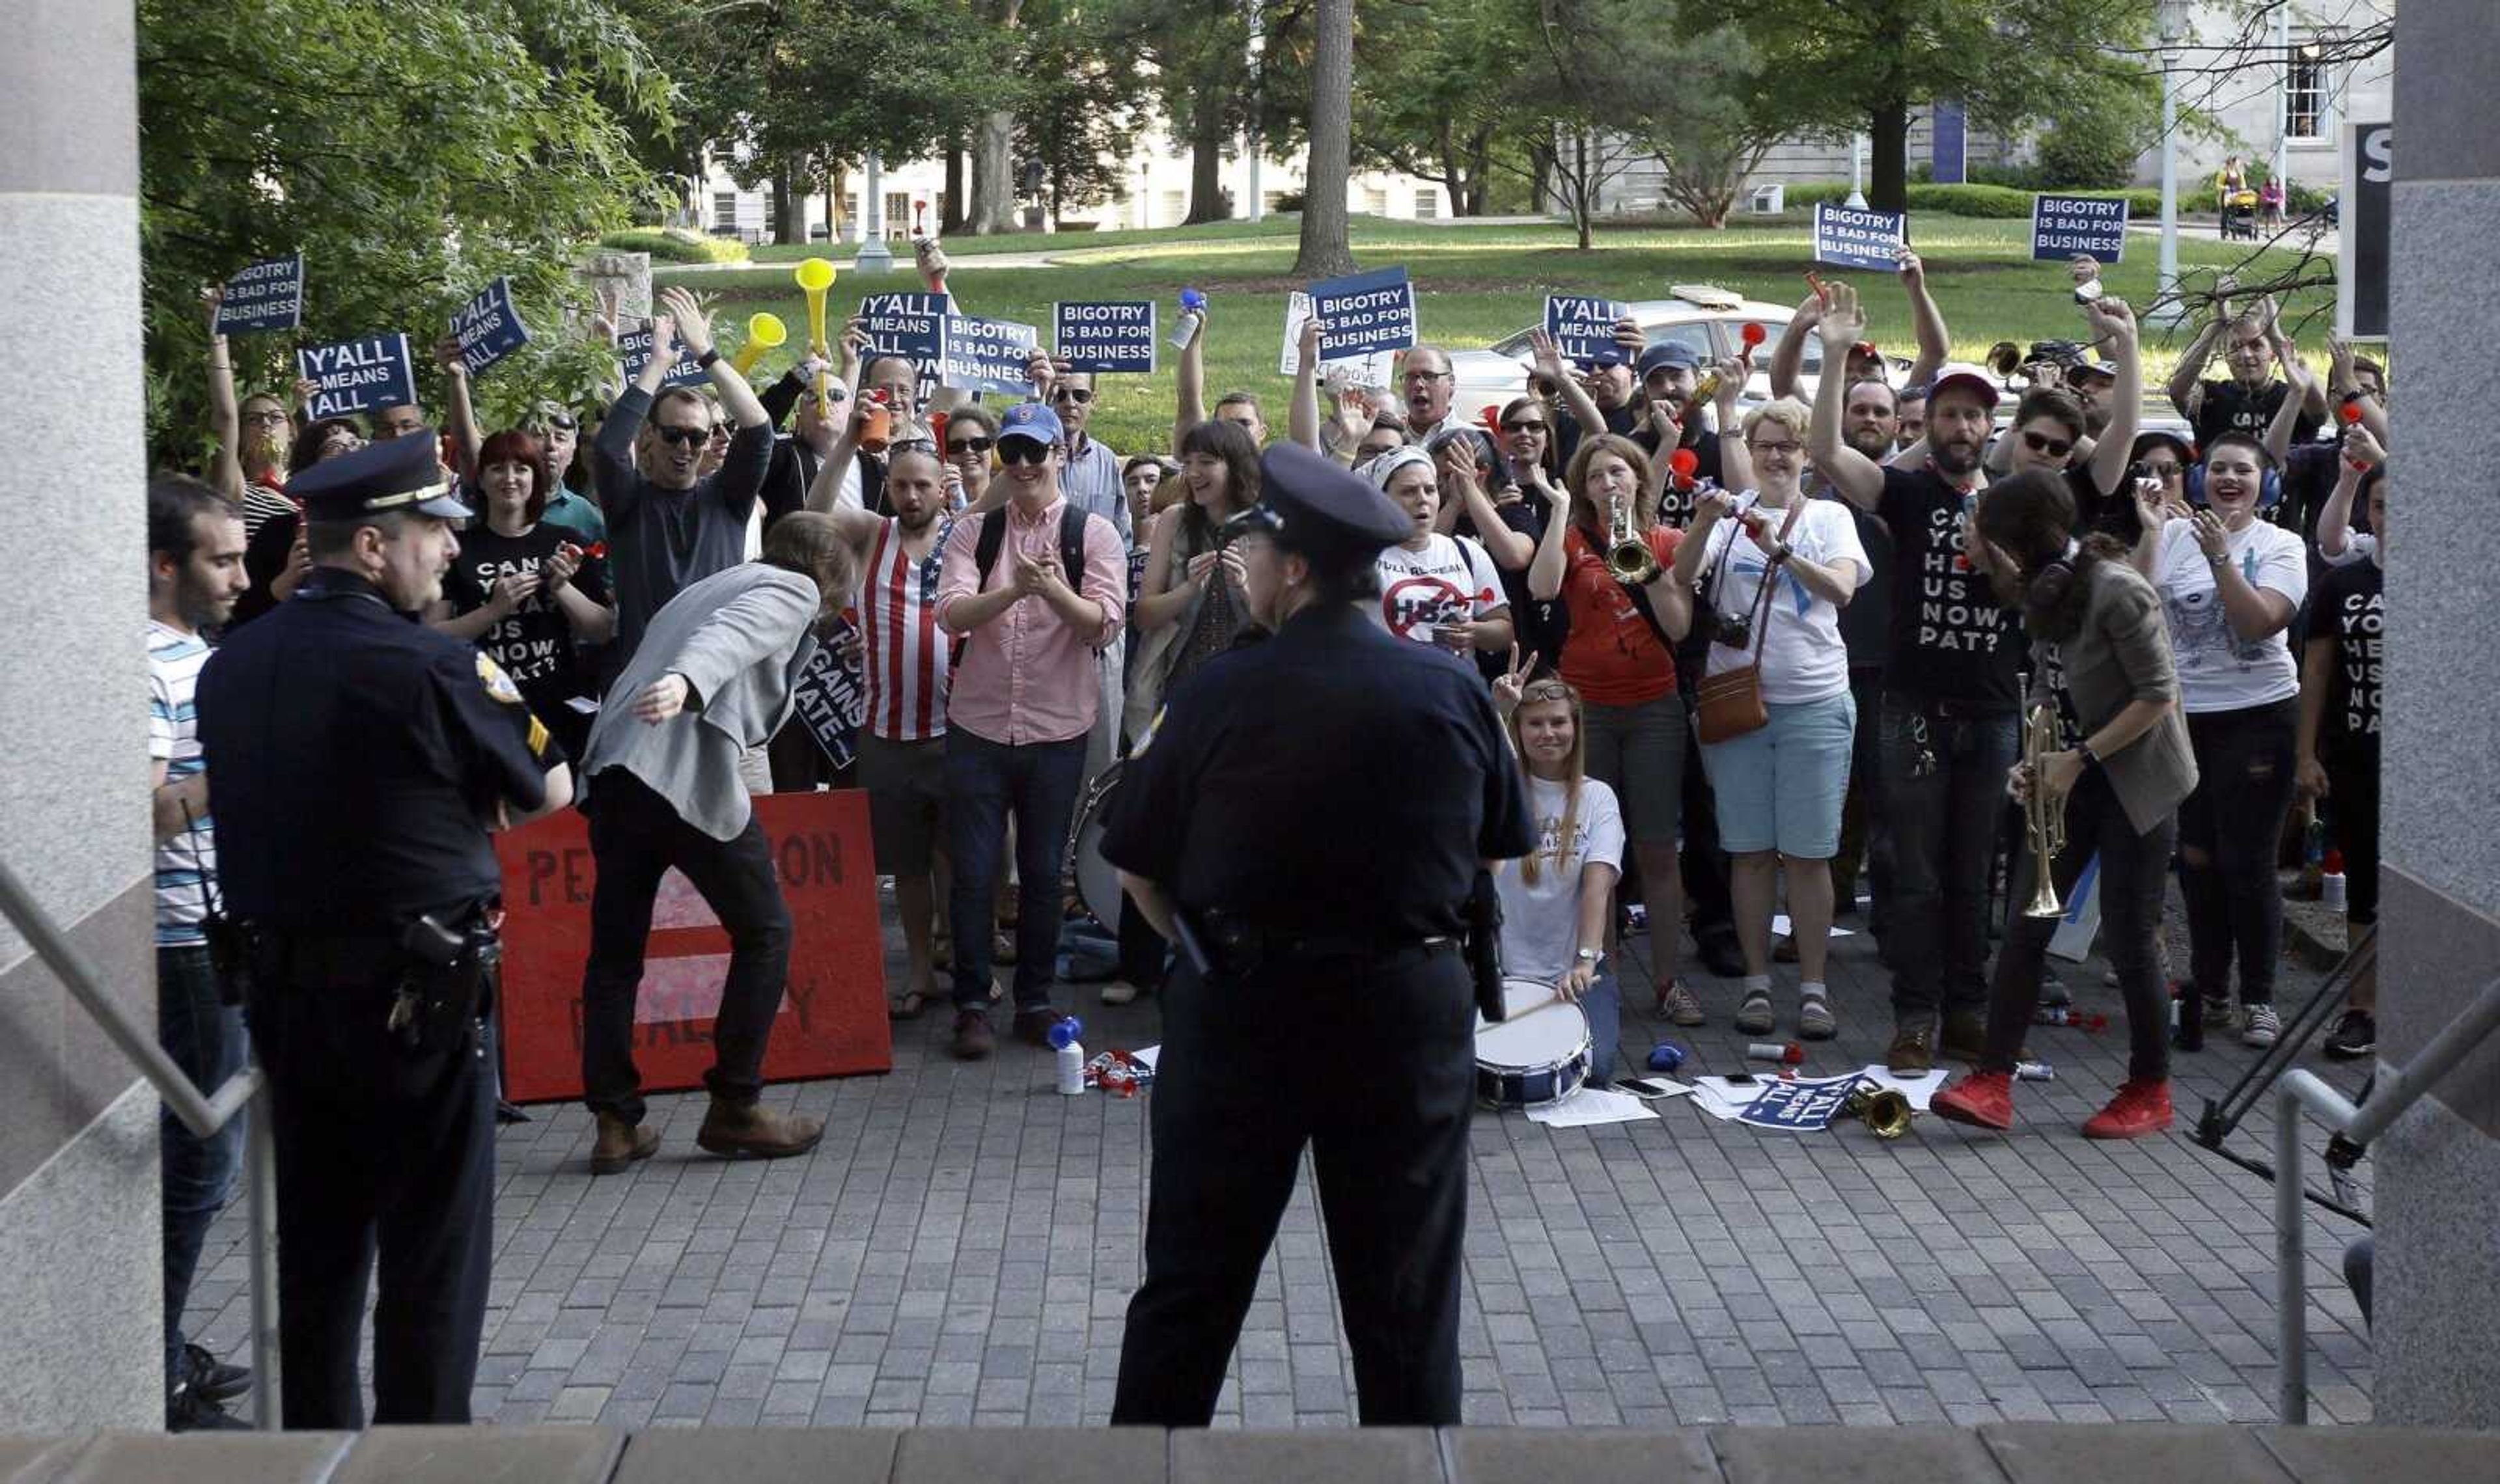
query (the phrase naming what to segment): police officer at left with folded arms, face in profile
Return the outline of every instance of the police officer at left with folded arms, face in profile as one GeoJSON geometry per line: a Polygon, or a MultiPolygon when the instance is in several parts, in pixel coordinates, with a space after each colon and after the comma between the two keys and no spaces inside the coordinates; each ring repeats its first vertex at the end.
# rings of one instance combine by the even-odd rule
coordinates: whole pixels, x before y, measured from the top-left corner
{"type": "Polygon", "coordinates": [[[288,490],[312,572],[200,672],[218,874],[270,1077],[285,1427],[468,1422],[492,1237],[488,829],[572,779],[520,690],[415,615],[460,552],[432,437],[288,490]]]}

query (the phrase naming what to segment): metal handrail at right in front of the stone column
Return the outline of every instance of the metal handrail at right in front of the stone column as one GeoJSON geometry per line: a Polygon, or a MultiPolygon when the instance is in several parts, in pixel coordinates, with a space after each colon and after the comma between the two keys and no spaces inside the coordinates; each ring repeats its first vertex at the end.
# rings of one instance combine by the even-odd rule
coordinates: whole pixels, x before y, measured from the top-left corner
{"type": "Polygon", "coordinates": [[[2278,1417],[2310,1419],[2308,1299],[2310,1274],[2300,1247],[2300,1109],[2308,1107],[2335,1137],[2362,1147],[2385,1134],[2440,1077],[2500,1029],[2500,979],[2430,1037],[2408,1067],[2378,1074],[2370,1102],[2355,1107],[2315,1072],[2285,1072],[2275,1084],[2275,1349],[2280,1352],[2278,1417]]]}

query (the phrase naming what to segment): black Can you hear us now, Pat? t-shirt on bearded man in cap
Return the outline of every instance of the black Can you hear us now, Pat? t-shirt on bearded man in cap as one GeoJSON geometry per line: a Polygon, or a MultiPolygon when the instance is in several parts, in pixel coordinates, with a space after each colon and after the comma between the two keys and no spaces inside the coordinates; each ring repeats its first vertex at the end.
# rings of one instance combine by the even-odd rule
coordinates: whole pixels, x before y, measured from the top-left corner
{"type": "Polygon", "coordinates": [[[1885,467],[1875,512],[1892,527],[1892,652],[1885,690],[1922,700],[2020,707],[2022,620],[1988,575],[1965,567],[1962,495],[1935,472],[1885,467]]]}

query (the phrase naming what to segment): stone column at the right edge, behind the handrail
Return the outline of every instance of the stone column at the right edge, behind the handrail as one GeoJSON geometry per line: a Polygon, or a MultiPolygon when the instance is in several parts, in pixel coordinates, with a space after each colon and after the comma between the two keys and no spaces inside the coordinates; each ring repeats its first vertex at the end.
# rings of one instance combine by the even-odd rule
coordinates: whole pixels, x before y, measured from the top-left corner
{"type": "MultiPolygon", "coordinates": [[[[2488,0],[2408,0],[2395,52],[2380,1059],[2500,972],[2500,130],[2488,0]]],[[[2500,1044],[2378,1147],[2380,1422],[2500,1427],[2500,1044]]]]}

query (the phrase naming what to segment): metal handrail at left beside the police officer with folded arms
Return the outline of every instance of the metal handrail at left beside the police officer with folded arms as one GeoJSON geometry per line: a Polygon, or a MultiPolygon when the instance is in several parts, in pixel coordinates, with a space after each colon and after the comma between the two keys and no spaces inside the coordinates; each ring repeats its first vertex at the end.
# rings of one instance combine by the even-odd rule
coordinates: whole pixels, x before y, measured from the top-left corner
{"type": "MultiPolygon", "coordinates": [[[[155,1094],[165,1099],[172,1117],[182,1119],[185,1129],[205,1139],[268,1092],[268,1077],[248,1062],[218,1092],[202,1094],[190,1074],[165,1054],[165,1047],[130,1022],[120,1002],[105,992],[105,977],[95,959],[45,914],[8,862],[0,862],[0,912],[35,949],[35,957],[52,969],[62,989],[102,1027],[105,1039],[130,1057],[130,1064],[155,1087],[155,1094]]],[[[278,1432],[278,1144],[265,1117],[242,1124],[242,1169],[252,1217],[252,1419],[262,1432],[278,1432]]]]}

